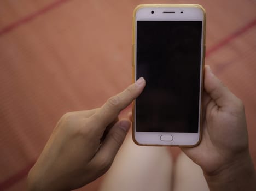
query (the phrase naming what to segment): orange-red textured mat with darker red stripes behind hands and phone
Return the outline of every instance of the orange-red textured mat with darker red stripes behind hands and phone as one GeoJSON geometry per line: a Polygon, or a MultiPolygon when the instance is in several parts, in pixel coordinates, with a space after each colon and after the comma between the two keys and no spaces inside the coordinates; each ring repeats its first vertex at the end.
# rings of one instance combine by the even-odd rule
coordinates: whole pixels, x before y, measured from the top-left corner
{"type": "Polygon", "coordinates": [[[142,3],[205,7],[206,64],[245,103],[256,164],[255,1],[2,0],[0,190],[25,189],[62,114],[100,106],[129,85],[132,11],[142,3]]]}

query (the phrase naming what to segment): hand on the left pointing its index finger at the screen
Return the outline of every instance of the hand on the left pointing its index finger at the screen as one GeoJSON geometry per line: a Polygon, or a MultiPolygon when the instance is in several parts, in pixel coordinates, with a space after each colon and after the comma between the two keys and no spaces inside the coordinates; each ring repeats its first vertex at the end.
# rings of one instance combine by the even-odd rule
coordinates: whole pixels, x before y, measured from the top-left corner
{"type": "Polygon", "coordinates": [[[72,190],[103,175],[131,124],[118,114],[144,86],[138,79],[101,108],[63,115],[28,174],[28,190],[72,190]]]}

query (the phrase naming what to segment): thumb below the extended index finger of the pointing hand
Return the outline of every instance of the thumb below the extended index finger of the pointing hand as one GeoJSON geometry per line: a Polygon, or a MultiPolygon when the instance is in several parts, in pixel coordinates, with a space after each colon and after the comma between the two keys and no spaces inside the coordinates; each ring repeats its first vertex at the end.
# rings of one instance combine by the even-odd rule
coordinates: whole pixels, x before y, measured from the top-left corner
{"type": "Polygon", "coordinates": [[[100,165],[104,171],[107,171],[110,168],[120,146],[123,144],[130,126],[131,122],[126,119],[115,123],[104,139],[100,150],[98,150],[91,162],[96,166],[100,165]]]}

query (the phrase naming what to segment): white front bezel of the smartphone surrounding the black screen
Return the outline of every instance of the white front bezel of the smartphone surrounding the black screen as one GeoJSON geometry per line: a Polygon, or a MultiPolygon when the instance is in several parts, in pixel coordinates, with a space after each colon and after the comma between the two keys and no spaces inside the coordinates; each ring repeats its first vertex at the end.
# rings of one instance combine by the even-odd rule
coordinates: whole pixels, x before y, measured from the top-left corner
{"type": "Polygon", "coordinates": [[[171,145],[171,146],[195,146],[201,139],[201,97],[202,97],[202,77],[203,61],[205,54],[205,11],[199,6],[158,6],[147,5],[137,8],[134,17],[134,44],[133,44],[133,67],[134,81],[136,81],[136,44],[137,44],[137,21],[202,21],[201,39],[201,70],[200,70],[200,103],[199,103],[199,126],[198,133],[170,133],[170,132],[137,132],[136,131],[136,100],[133,108],[133,140],[138,145],[171,145]],[[154,14],[151,13],[154,11],[154,14]],[[163,13],[168,12],[168,13],[163,13]],[[174,12],[174,13],[173,13],[174,12]],[[172,136],[171,141],[162,141],[162,135],[172,136]]]}

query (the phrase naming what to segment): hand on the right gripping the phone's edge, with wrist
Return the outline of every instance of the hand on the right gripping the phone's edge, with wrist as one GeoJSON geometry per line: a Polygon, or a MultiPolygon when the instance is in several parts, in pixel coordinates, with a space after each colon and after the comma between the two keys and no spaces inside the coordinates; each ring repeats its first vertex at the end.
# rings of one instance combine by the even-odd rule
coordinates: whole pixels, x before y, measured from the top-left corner
{"type": "Polygon", "coordinates": [[[181,148],[201,166],[210,190],[256,190],[243,103],[205,67],[201,143],[181,148]]]}

